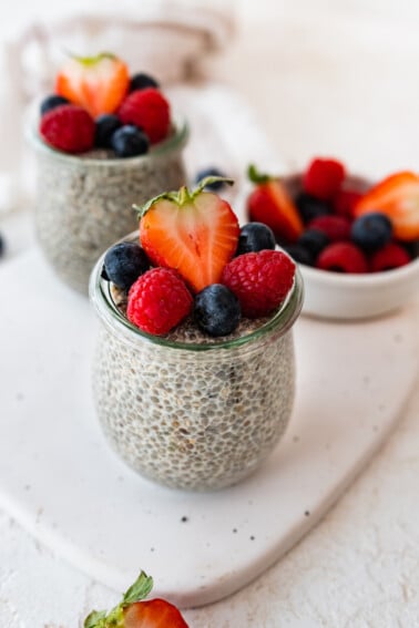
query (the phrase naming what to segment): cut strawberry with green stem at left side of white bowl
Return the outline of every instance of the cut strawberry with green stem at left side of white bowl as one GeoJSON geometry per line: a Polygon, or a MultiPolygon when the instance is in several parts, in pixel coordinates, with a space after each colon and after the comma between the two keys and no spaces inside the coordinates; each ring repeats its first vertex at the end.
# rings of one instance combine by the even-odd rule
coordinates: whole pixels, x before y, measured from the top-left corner
{"type": "Polygon", "coordinates": [[[247,200],[249,219],[270,227],[280,241],[296,241],[304,229],[303,220],[284,184],[259,174],[253,165],[247,174],[256,185],[247,200]]]}

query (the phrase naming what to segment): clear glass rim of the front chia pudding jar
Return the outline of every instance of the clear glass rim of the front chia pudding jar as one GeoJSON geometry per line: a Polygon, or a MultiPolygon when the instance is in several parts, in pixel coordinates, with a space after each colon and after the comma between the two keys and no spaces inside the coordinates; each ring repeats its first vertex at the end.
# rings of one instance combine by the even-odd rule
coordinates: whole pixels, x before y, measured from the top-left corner
{"type": "MultiPolygon", "coordinates": [[[[120,241],[125,241],[137,236],[139,231],[133,231],[126,238],[120,241]]],[[[110,281],[103,279],[102,268],[106,251],[98,259],[89,284],[90,301],[93,305],[100,319],[111,329],[117,329],[123,337],[130,342],[135,344],[136,341],[147,342],[150,346],[156,346],[164,349],[182,350],[191,352],[211,352],[218,351],[219,349],[233,349],[237,347],[251,346],[256,340],[262,340],[268,337],[273,331],[280,334],[286,333],[298,318],[304,300],[304,282],[303,276],[296,265],[295,278],[292,289],[289,290],[285,301],[280,305],[278,310],[260,327],[231,340],[221,340],[214,342],[177,342],[168,340],[164,336],[153,336],[142,331],[120,311],[111,295],[110,281]]]]}

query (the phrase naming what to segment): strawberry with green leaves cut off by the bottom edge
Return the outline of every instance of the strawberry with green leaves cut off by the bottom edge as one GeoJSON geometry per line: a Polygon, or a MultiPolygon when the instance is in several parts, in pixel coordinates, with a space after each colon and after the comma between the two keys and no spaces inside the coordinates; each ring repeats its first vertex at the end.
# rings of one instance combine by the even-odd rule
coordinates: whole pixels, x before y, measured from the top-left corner
{"type": "Polygon", "coordinates": [[[145,600],[153,578],[141,572],[135,583],[112,610],[93,610],[84,628],[188,628],[181,611],[165,599],[145,600]]]}

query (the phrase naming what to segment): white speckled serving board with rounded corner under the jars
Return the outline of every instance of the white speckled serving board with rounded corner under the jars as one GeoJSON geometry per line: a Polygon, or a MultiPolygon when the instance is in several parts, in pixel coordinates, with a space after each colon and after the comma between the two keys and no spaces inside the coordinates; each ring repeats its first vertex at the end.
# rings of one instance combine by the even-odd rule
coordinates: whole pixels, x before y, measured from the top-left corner
{"type": "Polygon", "coordinates": [[[253,477],[201,494],[125,467],[96,422],[98,330],[83,297],[32,249],[0,267],[0,503],[42,543],[124,590],[140,569],[181,607],[215,601],[276,562],[338,498],[402,414],[418,309],[361,323],[302,318],[297,401],[253,477]]]}

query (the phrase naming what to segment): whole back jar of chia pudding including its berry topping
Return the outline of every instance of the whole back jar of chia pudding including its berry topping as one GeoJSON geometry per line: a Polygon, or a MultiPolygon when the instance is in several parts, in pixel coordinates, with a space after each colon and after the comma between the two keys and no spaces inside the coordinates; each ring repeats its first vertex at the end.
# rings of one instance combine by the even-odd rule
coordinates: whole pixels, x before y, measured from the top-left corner
{"type": "Polygon", "coordinates": [[[135,228],[132,204],[185,182],[188,128],[155,78],[111,53],[70,56],[34,113],[38,239],[60,278],[86,292],[98,257],[135,228]]]}

